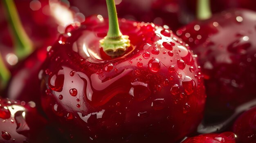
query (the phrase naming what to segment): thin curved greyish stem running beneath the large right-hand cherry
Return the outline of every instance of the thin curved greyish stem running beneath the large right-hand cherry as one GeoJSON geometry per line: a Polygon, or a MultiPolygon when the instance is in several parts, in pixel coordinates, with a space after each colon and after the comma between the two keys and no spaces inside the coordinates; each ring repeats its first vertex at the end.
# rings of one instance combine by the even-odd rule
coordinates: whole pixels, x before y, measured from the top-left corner
{"type": "Polygon", "coordinates": [[[219,123],[216,125],[204,125],[203,123],[200,123],[200,125],[198,125],[198,133],[208,134],[213,132],[221,132],[225,130],[236,119],[236,117],[238,117],[243,112],[249,110],[253,106],[256,106],[256,99],[238,106],[234,114],[232,114],[231,117],[229,117],[227,120],[223,121],[222,123],[219,123]]]}

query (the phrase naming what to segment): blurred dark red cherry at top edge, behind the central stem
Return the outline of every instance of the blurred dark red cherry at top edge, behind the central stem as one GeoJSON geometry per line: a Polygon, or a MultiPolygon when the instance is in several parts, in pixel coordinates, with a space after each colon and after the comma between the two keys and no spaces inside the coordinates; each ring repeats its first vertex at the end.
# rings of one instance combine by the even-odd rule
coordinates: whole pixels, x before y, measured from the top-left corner
{"type": "MultiPolygon", "coordinates": [[[[85,16],[99,14],[104,18],[108,13],[106,0],[69,0],[85,16]]],[[[119,18],[153,22],[157,25],[168,25],[175,30],[190,22],[191,15],[184,0],[115,0],[119,18]]]]}

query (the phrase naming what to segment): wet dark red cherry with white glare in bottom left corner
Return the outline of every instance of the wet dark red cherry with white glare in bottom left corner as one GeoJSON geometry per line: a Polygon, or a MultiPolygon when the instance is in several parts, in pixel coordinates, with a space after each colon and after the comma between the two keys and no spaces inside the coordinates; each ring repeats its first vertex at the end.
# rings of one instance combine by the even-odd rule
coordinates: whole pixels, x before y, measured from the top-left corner
{"type": "MultiPolygon", "coordinates": [[[[61,141],[34,102],[0,98],[0,143],[56,143],[61,141]]],[[[64,142],[65,143],[65,142],[64,142]]]]}

